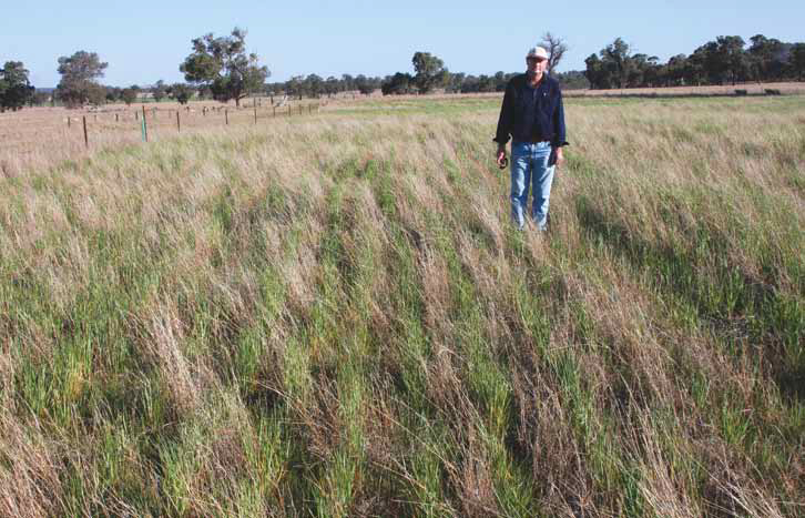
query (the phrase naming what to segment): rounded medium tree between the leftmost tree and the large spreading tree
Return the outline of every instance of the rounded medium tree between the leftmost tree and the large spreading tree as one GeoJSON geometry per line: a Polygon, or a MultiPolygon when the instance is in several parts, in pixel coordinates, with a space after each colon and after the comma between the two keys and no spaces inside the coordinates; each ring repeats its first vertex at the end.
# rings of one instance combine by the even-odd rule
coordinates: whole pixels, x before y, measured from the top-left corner
{"type": "Polygon", "coordinates": [[[95,52],[80,50],[71,57],[59,58],[61,81],[57,87],[59,99],[68,108],[82,106],[86,103],[101,104],[105,98],[105,89],[98,84],[103,70],[109,63],[101,62],[95,52]]]}

